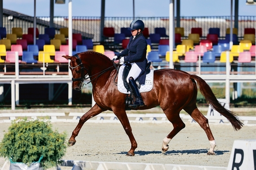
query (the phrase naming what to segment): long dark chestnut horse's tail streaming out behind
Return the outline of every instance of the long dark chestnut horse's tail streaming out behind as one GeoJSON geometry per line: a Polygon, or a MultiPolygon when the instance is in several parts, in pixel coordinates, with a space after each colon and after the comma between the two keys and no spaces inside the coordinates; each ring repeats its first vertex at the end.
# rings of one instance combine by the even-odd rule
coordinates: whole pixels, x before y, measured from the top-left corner
{"type": "Polygon", "coordinates": [[[207,103],[211,105],[217,112],[221,113],[225,118],[227,118],[235,130],[241,129],[244,124],[237,117],[237,114],[227,110],[219,103],[209,85],[197,75],[191,75],[190,77],[197,81],[199,90],[203,94],[207,103]]]}

